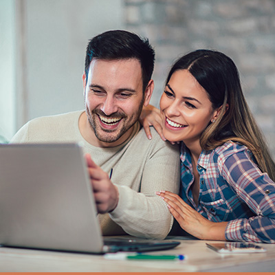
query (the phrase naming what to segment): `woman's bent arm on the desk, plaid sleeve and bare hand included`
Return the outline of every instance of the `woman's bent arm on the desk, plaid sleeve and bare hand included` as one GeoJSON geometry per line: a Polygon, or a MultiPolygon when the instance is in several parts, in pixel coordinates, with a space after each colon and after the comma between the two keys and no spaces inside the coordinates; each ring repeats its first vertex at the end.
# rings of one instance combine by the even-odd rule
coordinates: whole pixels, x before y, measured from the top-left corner
{"type": "Polygon", "coordinates": [[[219,156],[220,173],[239,199],[255,213],[253,217],[246,218],[245,213],[238,212],[237,206],[232,206],[236,217],[244,218],[214,223],[202,217],[178,195],[167,191],[157,192],[157,195],[166,201],[181,228],[199,239],[275,243],[274,181],[266,173],[261,173],[248,151],[226,154],[227,157],[219,156]]]}

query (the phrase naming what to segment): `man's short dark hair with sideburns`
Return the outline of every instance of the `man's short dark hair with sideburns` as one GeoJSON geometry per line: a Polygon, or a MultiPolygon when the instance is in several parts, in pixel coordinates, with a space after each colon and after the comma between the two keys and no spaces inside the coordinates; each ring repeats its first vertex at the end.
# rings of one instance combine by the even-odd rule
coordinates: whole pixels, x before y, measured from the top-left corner
{"type": "Polygon", "coordinates": [[[98,34],[89,41],[85,58],[86,81],[92,59],[116,60],[136,58],[142,67],[143,91],[153,74],[155,51],[148,39],[124,30],[111,30],[98,34]]]}

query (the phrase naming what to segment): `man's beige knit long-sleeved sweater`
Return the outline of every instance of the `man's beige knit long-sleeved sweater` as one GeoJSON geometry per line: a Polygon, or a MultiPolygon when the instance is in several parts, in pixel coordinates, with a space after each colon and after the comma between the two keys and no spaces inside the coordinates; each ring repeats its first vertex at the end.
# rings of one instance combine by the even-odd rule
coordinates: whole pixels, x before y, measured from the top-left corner
{"type": "Polygon", "coordinates": [[[118,186],[118,206],[109,214],[99,214],[102,234],[131,234],[144,238],[164,239],[173,223],[166,203],[155,195],[159,190],[178,192],[179,150],[160,139],[152,128],[148,140],[140,124],[123,144],[111,148],[92,146],[78,129],[83,111],[36,118],[25,124],[12,143],[81,142],[99,166],[109,173],[118,186]]]}

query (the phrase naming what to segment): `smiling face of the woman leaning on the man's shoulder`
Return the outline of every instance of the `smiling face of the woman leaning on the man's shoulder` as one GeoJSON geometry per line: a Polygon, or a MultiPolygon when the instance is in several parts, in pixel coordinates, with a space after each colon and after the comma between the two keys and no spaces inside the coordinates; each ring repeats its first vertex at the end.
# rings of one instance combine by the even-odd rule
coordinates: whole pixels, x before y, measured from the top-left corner
{"type": "Polygon", "coordinates": [[[217,115],[206,90],[187,69],[175,71],[159,102],[163,134],[170,142],[186,146],[198,142],[201,133],[217,115]]]}

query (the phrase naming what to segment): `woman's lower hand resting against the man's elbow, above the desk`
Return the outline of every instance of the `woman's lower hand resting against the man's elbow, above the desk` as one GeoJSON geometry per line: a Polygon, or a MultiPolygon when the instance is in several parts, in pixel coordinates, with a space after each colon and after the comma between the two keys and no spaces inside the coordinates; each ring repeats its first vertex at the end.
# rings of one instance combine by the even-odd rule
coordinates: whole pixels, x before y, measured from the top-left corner
{"type": "Polygon", "coordinates": [[[198,239],[225,241],[227,222],[209,221],[172,192],[160,191],[156,194],[166,201],[170,213],[173,214],[183,230],[198,239]]]}

